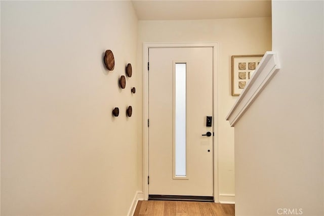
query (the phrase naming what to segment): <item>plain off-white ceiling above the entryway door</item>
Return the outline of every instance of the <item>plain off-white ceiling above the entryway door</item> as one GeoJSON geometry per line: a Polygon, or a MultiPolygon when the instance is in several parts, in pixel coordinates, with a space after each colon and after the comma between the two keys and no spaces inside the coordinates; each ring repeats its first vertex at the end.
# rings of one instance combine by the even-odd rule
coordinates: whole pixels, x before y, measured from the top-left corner
{"type": "Polygon", "coordinates": [[[271,17],[271,0],[132,0],[138,20],[271,17]]]}

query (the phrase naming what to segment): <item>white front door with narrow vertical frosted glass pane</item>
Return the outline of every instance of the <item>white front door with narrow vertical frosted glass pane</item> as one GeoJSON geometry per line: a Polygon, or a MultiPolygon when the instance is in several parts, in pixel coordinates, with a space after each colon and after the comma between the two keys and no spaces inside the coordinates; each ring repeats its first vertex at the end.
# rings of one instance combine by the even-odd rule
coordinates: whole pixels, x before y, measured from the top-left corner
{"type": "Polygon", "coordinates": [[[149,198],[213,198],[213,47],[149,48],[148,76],[149,198]]]}

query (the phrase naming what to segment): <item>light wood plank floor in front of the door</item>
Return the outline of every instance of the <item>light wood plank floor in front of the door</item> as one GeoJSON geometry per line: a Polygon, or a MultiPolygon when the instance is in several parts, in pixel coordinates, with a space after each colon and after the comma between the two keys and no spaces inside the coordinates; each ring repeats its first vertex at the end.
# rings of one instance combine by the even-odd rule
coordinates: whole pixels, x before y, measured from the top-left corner
{"type": "Polygon", "coordinates": [[[234,204],[186,201],[138,201],[134,216],[138,215],[235,215],[234,204]]]}

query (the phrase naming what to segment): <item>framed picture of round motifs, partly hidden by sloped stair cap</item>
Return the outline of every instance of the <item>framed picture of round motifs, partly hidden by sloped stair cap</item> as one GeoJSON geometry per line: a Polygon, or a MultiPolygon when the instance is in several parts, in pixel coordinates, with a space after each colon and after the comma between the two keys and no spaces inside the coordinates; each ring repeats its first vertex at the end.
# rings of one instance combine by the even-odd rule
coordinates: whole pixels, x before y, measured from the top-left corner
{"type": "Polygon", "coordinates": [[[232,56],[232,96],[239,96],[263,55],[232,56]]]}

